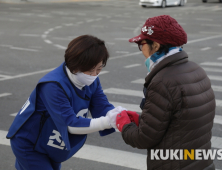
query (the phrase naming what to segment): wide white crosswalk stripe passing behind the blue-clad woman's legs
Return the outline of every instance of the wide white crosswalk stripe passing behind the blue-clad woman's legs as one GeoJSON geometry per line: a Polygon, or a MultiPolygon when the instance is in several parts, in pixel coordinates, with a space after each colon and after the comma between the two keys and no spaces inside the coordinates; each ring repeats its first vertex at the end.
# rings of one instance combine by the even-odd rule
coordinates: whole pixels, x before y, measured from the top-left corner
{"type": "MultiPolygon", "coordinates": [[[[1,145],[10,146],[10,140],[6,139],[7,133],[7,131],[0,130],[1,145]]],[[[117,149],[85,144],[75,155],[73,155],[73,157],[128,168],[146,170],[146,155],[117,149]]]]}

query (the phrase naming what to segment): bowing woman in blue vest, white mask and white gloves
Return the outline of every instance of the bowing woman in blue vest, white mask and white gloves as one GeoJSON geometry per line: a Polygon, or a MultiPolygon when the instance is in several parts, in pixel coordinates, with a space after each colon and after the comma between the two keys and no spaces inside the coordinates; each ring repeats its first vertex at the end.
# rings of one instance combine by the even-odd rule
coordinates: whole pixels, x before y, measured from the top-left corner
{"type": "Polygon", "coordinates": [[[97,37],[82,35],[69,43],[65,62],[39,80],[9,129],[17,170],[59,170],[87,134],[115,132],[124,108],[108,102],[98,78],[108,58],[97,37]]]}

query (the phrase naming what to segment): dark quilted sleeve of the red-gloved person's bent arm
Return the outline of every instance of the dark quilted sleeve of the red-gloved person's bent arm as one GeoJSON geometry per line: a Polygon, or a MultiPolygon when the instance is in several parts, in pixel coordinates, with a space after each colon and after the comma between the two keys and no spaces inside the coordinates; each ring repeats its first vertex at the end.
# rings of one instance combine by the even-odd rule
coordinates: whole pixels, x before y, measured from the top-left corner
{"type": "Polygon", "coordinates": [[[172,98],[162,81],[152,82],[145,97],[139,127],[130,123],[122,131],[126,144],[139,149],[153,148],[163,139],[172,113],[172,98]]]}

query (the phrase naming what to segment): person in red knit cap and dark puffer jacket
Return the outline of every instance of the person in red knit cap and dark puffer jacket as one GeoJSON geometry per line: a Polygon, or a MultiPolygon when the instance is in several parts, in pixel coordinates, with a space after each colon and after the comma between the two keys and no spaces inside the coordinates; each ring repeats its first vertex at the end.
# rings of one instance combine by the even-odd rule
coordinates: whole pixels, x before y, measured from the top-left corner
{"type": "Polygon", "coordinates": [[[205,71],[182,49],[186,32],[175,19],[162,15],[147,19],[141,34],[129,41],[138,44],[149,72],[141,116],[132,111],[117,115],[124,141],[147,149],[149,170],[214,170],[212,160],[151,158],[151,151],[158,149],[164,156],[168,149],[211,149],[215,96],[205,71]]]}

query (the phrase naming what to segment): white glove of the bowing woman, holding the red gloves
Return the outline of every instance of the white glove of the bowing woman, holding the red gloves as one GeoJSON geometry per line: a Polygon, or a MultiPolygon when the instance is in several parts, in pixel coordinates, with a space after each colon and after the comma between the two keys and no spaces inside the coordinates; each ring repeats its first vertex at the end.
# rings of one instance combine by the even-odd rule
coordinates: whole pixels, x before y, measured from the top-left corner
{"type": "Polygon", "coordinates": [[[117,129],[117,127],[116,127],[116,116],[117,116],[117,114],[119,114],[123,110],[127,110],[127,109],[123,108],[122,106],[118,106],[118,107],[115,107],[113,110],[108,111],[107,114],[106,114],[106,117],[109,118],[110,125],[115,129],[117,129]]]}

